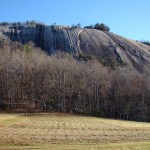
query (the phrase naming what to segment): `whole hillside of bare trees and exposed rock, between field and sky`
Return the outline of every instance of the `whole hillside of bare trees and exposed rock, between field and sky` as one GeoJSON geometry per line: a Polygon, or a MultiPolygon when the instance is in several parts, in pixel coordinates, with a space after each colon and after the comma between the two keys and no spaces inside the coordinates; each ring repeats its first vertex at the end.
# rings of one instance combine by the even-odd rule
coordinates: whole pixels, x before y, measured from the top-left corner
{"type": "Polygon", "coordinates": [[[150,121],[149,65],[150,46],[110,32],[1,25],[0,110],[150,121]]]}

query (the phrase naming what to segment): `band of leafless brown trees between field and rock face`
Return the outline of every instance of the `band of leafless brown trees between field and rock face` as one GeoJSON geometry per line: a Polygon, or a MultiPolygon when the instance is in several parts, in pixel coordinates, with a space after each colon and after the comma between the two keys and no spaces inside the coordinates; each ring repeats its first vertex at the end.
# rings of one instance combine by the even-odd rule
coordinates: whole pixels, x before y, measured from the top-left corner
{"type": "Polygon", "coordinates": [[[66,53],[48,56],[18,43],[0,45],[0,109],[62,111],[150,121],[150,77],[112,70],[66,53]]]}

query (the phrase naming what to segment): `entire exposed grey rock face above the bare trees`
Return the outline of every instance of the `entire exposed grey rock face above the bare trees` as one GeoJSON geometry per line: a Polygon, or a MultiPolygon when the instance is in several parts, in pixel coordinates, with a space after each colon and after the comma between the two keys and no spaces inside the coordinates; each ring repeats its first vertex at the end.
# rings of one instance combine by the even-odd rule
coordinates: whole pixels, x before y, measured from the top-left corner
{"type": "Polygon", "coordinates": [[[98,59],[124,61],[141,72],[150,72],[150,46],[110,32],[95,29],[45,25],[0,26],[0,39],[22,44],[32,41],[48,54],[57,50],[75,57],[95,56],[98,59]]]}

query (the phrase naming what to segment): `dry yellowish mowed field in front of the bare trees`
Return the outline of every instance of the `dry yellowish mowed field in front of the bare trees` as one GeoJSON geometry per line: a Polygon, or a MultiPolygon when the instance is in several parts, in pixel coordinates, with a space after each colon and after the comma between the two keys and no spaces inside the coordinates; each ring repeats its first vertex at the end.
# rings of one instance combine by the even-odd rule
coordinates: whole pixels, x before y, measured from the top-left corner
{"type": "Polygon", "coordinates": [[[0,149],[150,149],[150,124],[62,113],[0,114],[0,149]]]}

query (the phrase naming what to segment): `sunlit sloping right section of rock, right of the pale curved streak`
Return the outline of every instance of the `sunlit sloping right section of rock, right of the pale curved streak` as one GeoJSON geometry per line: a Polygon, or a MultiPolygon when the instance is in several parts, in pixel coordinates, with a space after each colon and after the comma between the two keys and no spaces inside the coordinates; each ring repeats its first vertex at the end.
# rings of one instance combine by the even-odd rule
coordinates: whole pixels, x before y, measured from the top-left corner
{"type": "Polygon", "coordinates": [[[138,71],[150,71],[150,47],[113,33],[85,29],[80,34],[80,47],[85,55],[124,61],[138,71]]]}

